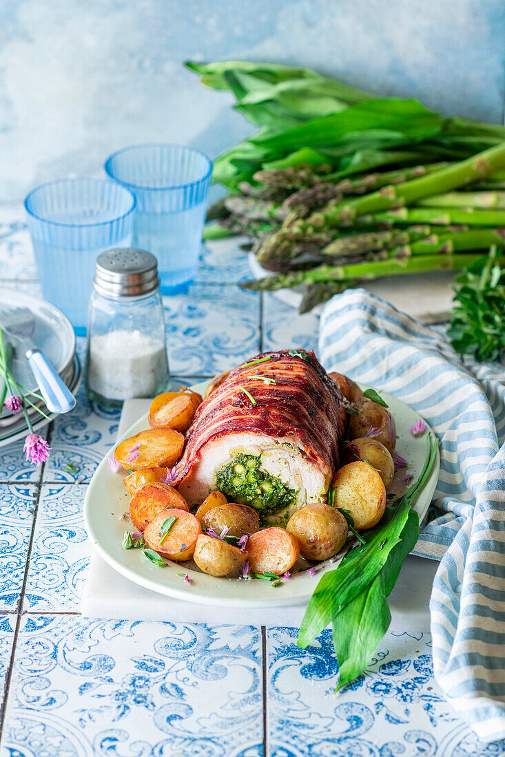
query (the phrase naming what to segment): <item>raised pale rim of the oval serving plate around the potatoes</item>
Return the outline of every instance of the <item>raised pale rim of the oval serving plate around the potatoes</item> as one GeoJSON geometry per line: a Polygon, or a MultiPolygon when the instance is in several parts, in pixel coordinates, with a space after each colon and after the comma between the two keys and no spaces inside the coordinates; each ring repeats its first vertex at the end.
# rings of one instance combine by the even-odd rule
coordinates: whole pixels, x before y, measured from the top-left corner
{"type": "MultiPolygon", "coordinates": [[[[210,379],[209,379],[210,380],[210,379]]],[[[209,380],[205,380],[205,382],[201,382],[199,384],[193,385],[191,388],[194,391],[199,391],[200,393],[205,388],[205,386],[209,383],[209,380]]],[[[368,385],[360,384],[362,388],[368,387],[368,385]]],[[[395,400],[396,402],[401,403],[403,407],[408,408],[408,410],[412,413],[415,413],[417,417],[421,418],[419,413],[417,413],[415,410],[413,410],[412,407],[407,405],[403,402],[403,400],[400,400],[398,397],[394,397],[391,394],[388,394],[385,391],[381,391],[381,394],[383,397],[391,398],[391,400],[395,400]]],[[[424,419],[423,419],[424,420],[424,419]]],[[[197,575],[202,576],[207,581],[205,581],[205,584],[199,588],[196,592],[192,589],[191,585],[185,585],[184,587],[177,587],[177,585],[173,585],[170,583],[160,583],[159,580],[156,578],[149,578],[146,575],[143,575],[142,573],[138,572],[136,569],[130,568],[128,565],[124,565],[124,563],[119,562],[118,559],[114,557],[114,555],[111,555],[111,553],[108,552],[107,548],[102,546],[100,536],[99,534],[96,534],[95,528],[93,527],[93,523],[91,522],[92,514],[90,513],[90,509],[92,507],[92,501],[93,501],[93,488],[98,485],[98,477],[99,472],[102,471],[102,469],[105,466],[108,466],[107,459],[111,456],[111,452],[114,450],[114,447],[117,446],[117,444],[120,444],[121,441],[124,439],[127,439],[129,436],[131,436],[133,433],[138,433],[138,426],[141,424],[144,424],[148,427],[147,424],[147,413],[144,413],[143,416],[140,417],[135,423],[130,425],[130,428],[127,429],[127,431],[124,432],[123,435],[121,435],[121,438],[119,438],[115,443],[114,446],[111,447],[111,450],[108,451],[108,453],[105,455],[105,457],[102,459],[101,463],[99,463],[99,466],[97,467],[96,471],[93,473],[93,477],[91,478],[91,481],[89,482],[88,487],[86,488],[86,496],[84,498],[84,506],[83,506],[83,519],[84,519],[84,525],[86,528],[86,532],[88,534],[89,540],[91,543],[94,544],[96,551],[99,553],[99,555],[102,557],[102,559],[105,560],[105,562],[108,563],[108,565],[111,566],[112,569],[114,569],[116,572],[118,572],[120,575],[124,575],[126,578],[128,578],[130,581],[133,581],[134,584],[143,586],[146,589],[155,591],[155,593],[158,593],[162,596],[168,596],[168,597],[174,597],[177,600],[183,600],[185,602],[193,602],[197,604],[204,604],[209,606],[233,606],[233,607],[250,607],[250,608],[258,608],[258,607],[282,607],[282,606],[297,606],[297,605],[303,605],[306,604],[310,597],[312,596],[312,592],[315,589],[317,583],[314,582],[314,579],[312,577],[309,577],[306,575],[306,573],[303,573],[302,575],[298,575],[296,578],[296,581],[298,581],[298,587],[300,587],[300,593],[298,596],[295,597],[283,597],[281,593],[274,594],[274,593],[268,593],[268,596],[266,594],[266,591],[262,594],[261,597],[255,598],[255,597],[240,597],[240,596],[230,596],[230,597],[212,597],[205,593],[205,585],[214,585],[215,581],[222,581],[223,579],[214,578],[209,575],[205,575],[205,573],[198,573],[197,575]],[[212,584],[208,584],[208,581],[212,581],[212,584]],[[303,585],[300,583],[303,581],[303,585]],[[304,590],[306,589],[306,590],[304,590]]],[[[427,431],[431,431],[433,433],[433,430],[431,429],[431,426],[426,422],[427,425],[427,431]]],[[[425,437],[423,437],[425,438],[425,437]]],[[[431,504],[431,499],[433,497],[435,488],[437,486],[438,482],[438,474],[440,471],[440,450],[437,450],[437,458],[435,461],[435,465],[433,469],[431,470],[431,475],[429,475],[427,481],[425,481],[425,485],[423,486],[422,490],[419,492],[418,497],[416,498],[416,503],[414,503],[413,509],[418,512],[419,521],[421,522],[424,518],[426,512],[428,512],[428,508],[431,504]],[[419,500],[422,500],[422,508],[416,509],[416,505],[419,503],[419,500]]],[[[103,501],[103,496],[102,496],[103,501]]],[[[140,560],[140,556],[139,556],[140,560]]],[[[172,570],[172,572],[177,572],[177,563],[169,562],[168,568],[172,570]]],[[[154,567],[149,567],[150,570],[154,570],[154,567]]],[[[329,560],[326,560],[322,563],[319,563],[318,565],[318,578],[323,575],[323,573],[327,572],[328,570],[333,570],[334,564],[332,564],[329,560]]],[[[179,568],[179,570],[181,570],[179,568]]],[[[166,574],[165,574],[166,575],[166,574]]],[[[229,579],[227,579],[229,580],[229,579]]],[[[179,579],[180,581],[180,579],[179,579]]],[[[234,586],[237,586],[237,584],[240,583],[239,581],[236,581],[234,586]]],[[[262,583],[262,582],[259,582],[262,583]]],[[[290,586],[293,586],[293,584],[290,583],[290,586]]],[[[265,589],[269,589],[271,591],[271,587],[267,586],[265,589]]]]}

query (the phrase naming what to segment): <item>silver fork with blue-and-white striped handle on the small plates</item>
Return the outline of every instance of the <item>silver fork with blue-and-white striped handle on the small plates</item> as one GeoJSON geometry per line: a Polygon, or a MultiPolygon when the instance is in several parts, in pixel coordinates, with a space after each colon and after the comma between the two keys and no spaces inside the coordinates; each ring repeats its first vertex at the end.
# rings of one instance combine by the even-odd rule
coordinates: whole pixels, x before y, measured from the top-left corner
{"type": "Polygon", "coordinates": [[[9,338],[20,342],[20,348],[27,357],[48,410],[51,413],[68,413],[72,410],[75,407],[74,394],[49,363],[45,354],[33,344],[35,320],[30,310],[27,307],[0,310],[0,326],[9,338]]]}

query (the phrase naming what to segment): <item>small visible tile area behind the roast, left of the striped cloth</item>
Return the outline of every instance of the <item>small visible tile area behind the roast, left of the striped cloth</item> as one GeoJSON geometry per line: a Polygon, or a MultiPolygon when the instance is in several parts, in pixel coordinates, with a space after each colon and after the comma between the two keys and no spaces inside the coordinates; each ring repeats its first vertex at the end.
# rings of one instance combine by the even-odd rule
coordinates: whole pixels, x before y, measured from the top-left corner
{"type": "Polygon", "coordinates": [[[285,347],[303,347],[317,350],[319,316],[313,313],[300,315],[295,307],[284,304],[265,292],[263,300],[263,349],[281,350],[285,347]]]}

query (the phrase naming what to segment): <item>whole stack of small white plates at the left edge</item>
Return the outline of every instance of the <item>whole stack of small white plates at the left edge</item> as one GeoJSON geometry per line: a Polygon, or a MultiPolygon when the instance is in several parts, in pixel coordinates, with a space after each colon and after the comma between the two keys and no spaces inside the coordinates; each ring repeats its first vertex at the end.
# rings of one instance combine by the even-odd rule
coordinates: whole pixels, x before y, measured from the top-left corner
{"type": "MultiPolygon", "coordinates": [[[[55,370],[61,375],[65,384],[72,392],[80,385],[81,367],[75,347],[75,333],[71,322],[58,310],[41,297],[34,294],[0,287],[0,311],[9,310],[13,307],[27,307],[35,321],[32,339],[40,350],[52,363],[55,370]]],[[[24,385],[30,391],[38,391],[36,381],[30,371],[30,366],[17,341],[12,342],[14,347],[14,359],[11,370],[19,384],[24,385]]],[[[30,399],[33,400],[33,397],[30,399]]],[[[41,404],[42,410],[48,418],[44,418],[36,410],[30,408],[30,420],[34,431],[39,431],[55,418],[55,413],[49,413],[41,404]]],[[[0,415],[0,447],[18,441],[27,435],[27,423],[23,413],[12,413],[4,407],[0,415]]]]}

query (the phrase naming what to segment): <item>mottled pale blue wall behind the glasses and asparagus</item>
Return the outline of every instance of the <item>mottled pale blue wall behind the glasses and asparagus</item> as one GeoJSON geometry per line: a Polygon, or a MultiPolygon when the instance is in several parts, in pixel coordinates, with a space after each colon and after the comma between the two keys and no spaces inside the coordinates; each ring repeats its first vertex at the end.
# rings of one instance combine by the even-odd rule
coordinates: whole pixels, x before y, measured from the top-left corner
{"type": "Polygon", "coordinates": [[[252,130],[188,58],[314,67],[503,123],[503,0],[0,0],[0,202],[138,142],[215,157],[252,130]]]}

